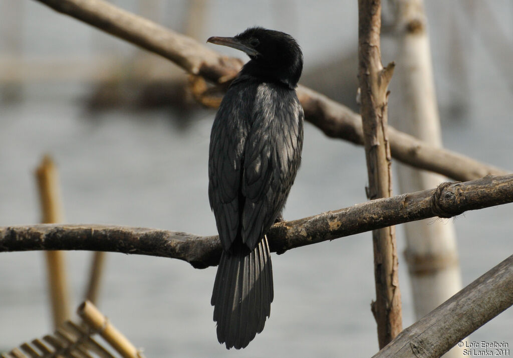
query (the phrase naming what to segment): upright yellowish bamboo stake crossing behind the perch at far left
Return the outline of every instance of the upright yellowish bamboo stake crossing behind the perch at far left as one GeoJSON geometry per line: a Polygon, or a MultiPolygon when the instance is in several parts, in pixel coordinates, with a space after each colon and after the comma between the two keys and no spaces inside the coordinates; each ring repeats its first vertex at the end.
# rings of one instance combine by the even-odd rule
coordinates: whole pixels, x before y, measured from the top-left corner
{"type": "MultiPolygon", "coordinates": [[[[57,168],[53,160],[46,155],[36,169],[36,178],[40,193],[43,223],[63,222],[61,193],[58,184],[57,168]]],[[[65,253],[47,251],[48,285],[53,313],[54,327],[60,326],[70,317],[70,298],[66,278],[65,253]]]]}

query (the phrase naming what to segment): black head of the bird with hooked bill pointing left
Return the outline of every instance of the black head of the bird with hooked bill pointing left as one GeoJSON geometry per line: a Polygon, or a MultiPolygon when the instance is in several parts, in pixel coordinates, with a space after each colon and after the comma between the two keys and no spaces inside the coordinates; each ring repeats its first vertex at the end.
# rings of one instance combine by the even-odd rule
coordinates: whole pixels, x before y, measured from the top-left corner
{"type": "Polygon", "coordinates": [[[210,37],[207,42],[236,48],[251,59],[242,73],[297,86],[303,70],[303,53],[292,36],[262,27],[251,27],[234,37],[210,37]]]}

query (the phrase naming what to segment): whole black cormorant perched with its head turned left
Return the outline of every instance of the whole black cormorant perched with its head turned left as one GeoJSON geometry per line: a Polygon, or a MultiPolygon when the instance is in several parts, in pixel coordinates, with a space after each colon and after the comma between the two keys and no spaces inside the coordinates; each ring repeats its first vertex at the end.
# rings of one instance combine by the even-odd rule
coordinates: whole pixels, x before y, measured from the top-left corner
{"type": "Polygon", "coordinates": [[[265,234],[301,161],[303,108],[295,93],[303,54],[288,34],[261,27],[207,42],[244,51],[244,65],[212,126],[208,195],[223,253],[211,304],[218,340],[246,347],[264,329],[273,299],[265,234]]]}

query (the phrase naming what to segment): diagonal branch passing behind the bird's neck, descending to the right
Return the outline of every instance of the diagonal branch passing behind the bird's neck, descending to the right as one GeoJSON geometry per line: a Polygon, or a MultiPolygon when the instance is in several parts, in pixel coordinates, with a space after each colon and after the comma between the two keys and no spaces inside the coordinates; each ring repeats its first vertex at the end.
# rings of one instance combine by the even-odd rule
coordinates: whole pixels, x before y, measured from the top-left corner
{"type": "MultiPolygon", "coordinates": [[[[36,1],[159,54],[187,72],[214,83],[225,84],[243,64],[239,59],[223,56],[188,36],[168,30],[102,0],[36,1]]],[[[298,88],[298,97],[305,110],[305,119],[319,127],[327,136],[363,144],[360,115],[304,86],[298,88]]],[[[502,169],[434,147],[392,127],[388,127],[388,130],[392,156],[411,166],[462,181],[478,179],[488,174],[507,174],[502,169]]]]}

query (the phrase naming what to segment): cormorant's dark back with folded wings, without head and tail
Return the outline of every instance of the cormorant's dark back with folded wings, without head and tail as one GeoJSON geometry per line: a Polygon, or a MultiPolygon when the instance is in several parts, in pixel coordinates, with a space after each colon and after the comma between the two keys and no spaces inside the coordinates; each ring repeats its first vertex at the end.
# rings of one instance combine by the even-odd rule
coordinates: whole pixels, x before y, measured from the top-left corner
{"type": "Polygon", "coordinates": [[[225,250],[249,249],[285,204],[301,161],[303,109],[295,90],[241,76],[212,126],[209,198],[225,250]]]}

